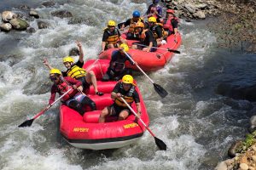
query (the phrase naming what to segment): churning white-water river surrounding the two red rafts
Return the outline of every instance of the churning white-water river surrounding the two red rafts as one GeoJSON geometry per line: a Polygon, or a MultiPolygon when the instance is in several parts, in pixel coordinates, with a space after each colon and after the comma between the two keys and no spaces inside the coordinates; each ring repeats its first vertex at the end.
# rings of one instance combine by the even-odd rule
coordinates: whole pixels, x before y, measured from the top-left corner
{"type": "MultiPolygon", "coordinates": [[[[150,116],[150,128],[168,149],[158,150],[154,138],[145,133],[137,144],[119,150],[80,150],[58,133],[58,106],[40,116],[32,127],[17,126],[41,111],[48,103],[50,83],[44,58],[64,69],[61,58],[83,44],[85,59],[96,59],[102,29],[110,19],[124,21],[134,9],[145,12],[149,2],[130,0],[1,1],[1,12],[26,4],[50,24],[35,33],[0,32],[0,169],[3,170],[196,170],[213,169],[227,158],[233,140],[247,133],[253,103],[216,94],[219,83],[253,84],[256,56],[217,48],[207,21],[185,22],[179,30],[183,44],[172,61],[149,74],[169,95],[160,99],[148,79],[136,77],[150,116]],[[50,12],[67,9],[73,19],[56,18],[50,12]]],[[[211,20],[211,19],[210,19],[211,20]]]]}

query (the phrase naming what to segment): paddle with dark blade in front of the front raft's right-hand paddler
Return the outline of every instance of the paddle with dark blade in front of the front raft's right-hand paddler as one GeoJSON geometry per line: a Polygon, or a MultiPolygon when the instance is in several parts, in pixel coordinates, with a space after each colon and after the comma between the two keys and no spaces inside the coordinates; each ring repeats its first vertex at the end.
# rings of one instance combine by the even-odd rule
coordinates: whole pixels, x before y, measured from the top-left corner
{"type": "Polygon", "coordinates": [[[161,139],[158,139],[155,137],[154,133],[150,130],[149,127],[147,127],[146,123],[143,122],[143,120],[137,115],[137,113],[131,108],[131,106],[125,101],[124,98],[120,97],[123,102],[125,103],[125,105],[127,105],[127,107],[131,110],[131,112],[137,116],[137,118],[143,123],[143,126],[146,127],[146,129],[148,130],[148,132],[154,137],[154,141],[155,141],[155,144],[158,146],[158,148],[160,150],[166,150],[166,144],[161,140],[161,139]]]}

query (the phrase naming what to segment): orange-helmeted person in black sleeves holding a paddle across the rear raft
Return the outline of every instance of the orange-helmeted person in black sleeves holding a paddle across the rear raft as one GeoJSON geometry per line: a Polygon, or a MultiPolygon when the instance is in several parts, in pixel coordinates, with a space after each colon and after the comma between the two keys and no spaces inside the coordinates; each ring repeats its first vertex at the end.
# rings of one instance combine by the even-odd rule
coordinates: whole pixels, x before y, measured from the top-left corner
{"type": "Polygon", "coordinates": [[[134,42],[131,48],[142,49],[146,52],[154,52],[156,48],[152,47],[157,47],[157,43],[154,39],[153,33],[148,31],[148,29],[144,29],[144,24],[142,22],[137,22],[134,29],[136,40],[140,42],[134,42]],[[140,44],[143,46],[140,46],[140,44]]]}

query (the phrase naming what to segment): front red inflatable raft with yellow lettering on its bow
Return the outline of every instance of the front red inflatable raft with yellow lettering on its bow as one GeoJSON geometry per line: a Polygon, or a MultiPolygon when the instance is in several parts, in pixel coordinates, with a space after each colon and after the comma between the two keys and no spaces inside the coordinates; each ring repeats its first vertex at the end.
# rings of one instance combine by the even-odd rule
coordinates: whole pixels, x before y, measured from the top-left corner
{"type": "MultiPolygon", "coordinates": [[[[84,69],[95,71],[96,77],[101,79],[107,71],[108,65],[108,59],[89,60],[84,64],[84,69]]],[[[61,105],[60,131],[69,144],[82,149],[105,150],[133,144],[143,136],[146,129],[141,122],[137,122],[133,114],[124,121],[116,122],[117,117],[108,117],[107,122],[98,123],[102,109],[113,104],[110,93],[116,83],[98,81],[98,90],[104,93],[102,96],[95,95],[93,87],[90,87],[87,94],[96,102],[97,111],[89,111],[88,107],[84,117],[66,105],[61,105]]],[[[141,118],[148,126],[149,119],[146,106],[139,89],[136,89],[141,101],[141,118]]],[[[134,111],[137,111],[135,103],[131,107],[134,111]]]]}

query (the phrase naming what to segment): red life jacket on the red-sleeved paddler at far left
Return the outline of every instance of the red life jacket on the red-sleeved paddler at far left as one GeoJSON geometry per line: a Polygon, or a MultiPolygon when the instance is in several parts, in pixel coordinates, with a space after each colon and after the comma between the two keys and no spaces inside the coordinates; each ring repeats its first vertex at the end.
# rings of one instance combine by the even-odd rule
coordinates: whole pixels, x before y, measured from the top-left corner
{"type": "Polygon", "coordinates": [[[70,90],[66,95],[64,95],[61,98],[62,102],[67,101],[68,99],[71,99],[75,94],[77,94],[77,91],[73,89],[72,86],[68,85],[67,82],[63,81],[61,82],[61,84],[56,84],[57,88],[58,88],[58,93],[60,95],[65,94],[67,92],[67,90],[70,90]]]}

